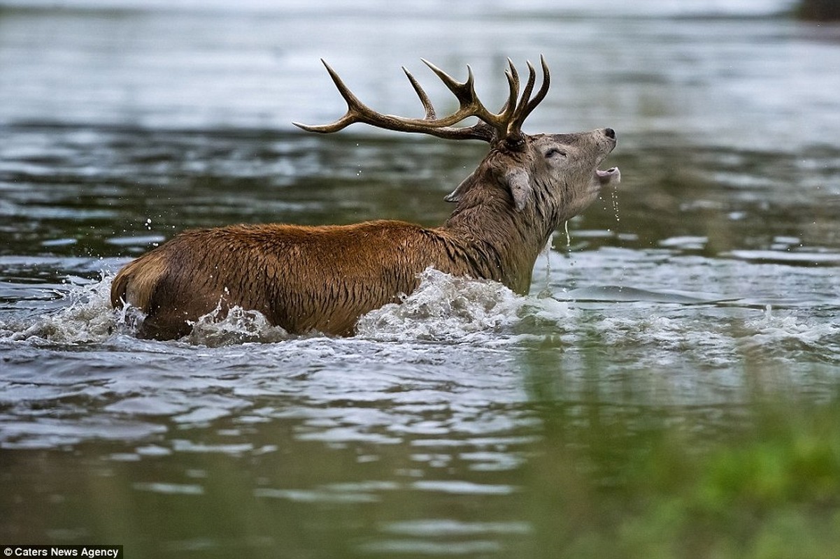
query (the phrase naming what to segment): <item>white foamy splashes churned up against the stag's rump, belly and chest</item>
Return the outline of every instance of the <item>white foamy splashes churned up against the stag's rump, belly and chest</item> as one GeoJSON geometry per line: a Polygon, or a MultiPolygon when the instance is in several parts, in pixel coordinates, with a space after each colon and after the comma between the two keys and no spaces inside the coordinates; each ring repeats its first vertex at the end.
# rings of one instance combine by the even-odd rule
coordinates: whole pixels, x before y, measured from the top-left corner
{"type": "MultiPolygon", "coordinates": [[[[465,336],[480,334],[490,341],[500,333],[512,333],[523,317],[559,323],[570,313],[568,303],[551,297],[516,295],[495,281],[454,277],[435,269],[427,269],[419,277],[419,287],[404,296],[401,304],[386,305],[362,316],[358,337],[462,341],[465,336]]],[[[112,280],[113,275],[102,273],[100,281],[71,286],[61,295],[65,304],[58,311],[4,321],[0,324],[0,340],[76,345],[106,342],[119,335],[135,336],[144,315],[132,306],[112,308],[112,280]]],[[[226,312],[217,306],[192,322],[192,327],[181,342],[221,347],[300,337],[272,326],[258,311],[236,306],[226,312]]]]}

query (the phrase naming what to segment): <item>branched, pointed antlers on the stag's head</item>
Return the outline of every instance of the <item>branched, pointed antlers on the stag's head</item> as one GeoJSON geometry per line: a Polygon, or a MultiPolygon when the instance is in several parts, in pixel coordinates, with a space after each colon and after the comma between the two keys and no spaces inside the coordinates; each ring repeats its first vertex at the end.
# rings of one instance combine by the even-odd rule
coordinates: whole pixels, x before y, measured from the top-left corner
{"type": "Polygon", "coordinates": [[[342,118],[339,118],[339,120],[331,124],[317,126],[309,126],[301,123],[293,124],[309,132],[318,133],[338,132],[352,123],[366,123],[377,128],[386,128],[398,132],[425,133],[437,136],[438,138],[480,139],[490,143],[495,143],[504,138],[518,138],[522,134],[522,123],[525,122],[528,115],[543,101],[549,92],[549,66],[546,65],[543,55],[540,55],[539,60],[543,66],[543,84],[540,86],[539,91],[537,91],[537,95],[531,98],[531,92],[537,79],[537,72],[534,70],[533,65],[528,62],[528,83],[525,85],[524,91],[522,91],[522,97],[519,97],[519,74],[513,66],[512,60],[507,59],[508,69],[505,71],[505,76],[507,77],[509,91],[507,101],[501,107],[500,112],[491,112],[480,102],[478,95],[475,93],[475,78],[470,65],[467,65],[466,81],[459,82],[428,60],[423,60],[423,64],[427,65],[438,75],[440,80],[444,82],[444,85],[447,86],[449,91],[452,91],[459,102],[457,111],[441,118],[437,117],[426,91],[423,91],[423,87],[420,86],[411,72],[403,67],[402,71],[406,73],[408,81],[411,81],[412,87],[417,93],[417,97],[420,98],[420,102],[423,103],[423,109],[426,112],[424,118],[405,118],[381,114],[367,107],[353,94],[353,91],[350,91],[344,85],[344,81],[341,81],[339,75],[322,59],[321,62],[327,68],[329,76],[333,78],[333,82],[335,82],[335,86],[339,89],[341,97],[344,97],[344,101],[347,102],[347,112],[344,113],[342,118]],[[470,117],[478,118],[479,122],[472,126],[454,126],[454,124],[470,117]]]}

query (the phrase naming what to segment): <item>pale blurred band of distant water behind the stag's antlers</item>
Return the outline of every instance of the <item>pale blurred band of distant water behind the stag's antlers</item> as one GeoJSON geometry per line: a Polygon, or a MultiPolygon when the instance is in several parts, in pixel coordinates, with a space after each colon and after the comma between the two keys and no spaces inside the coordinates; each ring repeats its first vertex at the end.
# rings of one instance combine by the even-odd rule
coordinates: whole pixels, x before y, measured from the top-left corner
{"type": "Polygon", "coordinates": [[[454,76],[472,65],[481,96],[501,103],[506,58],[523,65],[543,54],[554,85],[534,130],[608,121],[650,138],[790,151],[837,128],[836,32],[797,22],[791,0],[3,7],[3,123],[291,130],[293,120],[344,110],[319,58],[371,106],[417,114],[402,65],[443,109],[452,100],[421,57],[454,76]]]}

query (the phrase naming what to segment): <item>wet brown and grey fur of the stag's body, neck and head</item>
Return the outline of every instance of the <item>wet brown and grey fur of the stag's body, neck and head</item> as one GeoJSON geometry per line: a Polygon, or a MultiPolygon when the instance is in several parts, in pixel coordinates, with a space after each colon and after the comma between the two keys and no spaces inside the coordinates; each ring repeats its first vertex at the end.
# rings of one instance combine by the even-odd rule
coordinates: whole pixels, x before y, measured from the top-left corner
{"type": "Polygon", "coordinates": [[[615,144],[601,136],[527,136],[527,149],[491,149],[449,196],[457,206],[437,228],[374,221],[182,232],[120,270],[112,305],[144,311],[140,337],[184,336],[190,321],[217,306],[260,311],[288,332],[349,335],[359,316],[411,293],[430,266],[527,293],[551,232],[594,200],[595,167],[615,144]],[[559,141],[582,144],[585,162],[547,180],[543,144],[559,141]],[[526,177],[518,190],[509,184],[512,169],[526,177]]]}

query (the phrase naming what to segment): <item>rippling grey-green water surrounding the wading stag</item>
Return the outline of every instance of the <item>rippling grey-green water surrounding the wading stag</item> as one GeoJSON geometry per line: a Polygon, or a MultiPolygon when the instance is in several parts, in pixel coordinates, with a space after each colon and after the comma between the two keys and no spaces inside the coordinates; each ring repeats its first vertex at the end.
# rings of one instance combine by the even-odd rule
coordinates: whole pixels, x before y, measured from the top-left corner
{"type": "Polygon", "coordinates": [[[66,4],[0,8],[0,544],[633,556],[672,525],[638,520],[644,452],[702,472],[772,438],[757,394],[835,401],[837,29],[770,0],[66,4]],[[244,313],[141,341],[109,308],[116,270],[186,227],[443,222],[483,146],[297,131],[344,110],[319,57],[417,115],[400,65],[447,107],[421,56],[501,102],[506,57],[540,53],[526,128],[616,128],[622,185],[554,235],[532,295],[429,270],[346,339],[244,313]]]}

